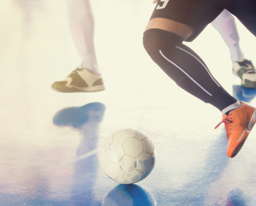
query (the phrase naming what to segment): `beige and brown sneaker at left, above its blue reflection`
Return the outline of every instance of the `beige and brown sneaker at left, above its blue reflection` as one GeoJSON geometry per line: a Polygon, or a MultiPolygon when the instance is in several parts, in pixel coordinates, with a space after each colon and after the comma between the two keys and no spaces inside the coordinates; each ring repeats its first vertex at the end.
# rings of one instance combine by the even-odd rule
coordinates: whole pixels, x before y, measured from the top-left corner
{"type": "Polygon", "coordinates": [[[99,92],[105,87],[101,75],[79,66],[64,81],[55,81],[52,89],[57,92],[99,92]]]}

